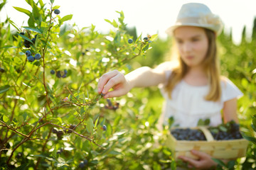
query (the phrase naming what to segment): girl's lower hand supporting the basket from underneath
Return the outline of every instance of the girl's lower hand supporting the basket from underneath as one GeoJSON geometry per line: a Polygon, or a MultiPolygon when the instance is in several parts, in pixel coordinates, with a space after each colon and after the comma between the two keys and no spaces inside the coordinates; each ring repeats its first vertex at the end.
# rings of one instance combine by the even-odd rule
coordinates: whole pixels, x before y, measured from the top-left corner
{"type": "Polygon", "coordinates": [[[192,150],[192,154],[196,155],[199,159],[195,160],[189,157],[179,156],[179,159],[182,159],[184,162],[188,162],[188,168],[192,169],[211,169],[217,164],[211,159],[209,154],[199,152],[197,150],[192,150]]]}

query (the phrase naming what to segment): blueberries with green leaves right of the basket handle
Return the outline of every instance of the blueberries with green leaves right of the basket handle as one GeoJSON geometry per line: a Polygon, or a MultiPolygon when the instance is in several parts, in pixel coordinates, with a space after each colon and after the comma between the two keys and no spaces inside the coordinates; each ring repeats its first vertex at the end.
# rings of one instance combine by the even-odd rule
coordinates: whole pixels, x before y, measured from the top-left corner
{"type": "Polygon", "coordinates": [[[242,139],[238,123],[230,121],[229,123],[218,125],[217,127],[210,127],[210,133],[214,140],[236,140],[242,139]]]}

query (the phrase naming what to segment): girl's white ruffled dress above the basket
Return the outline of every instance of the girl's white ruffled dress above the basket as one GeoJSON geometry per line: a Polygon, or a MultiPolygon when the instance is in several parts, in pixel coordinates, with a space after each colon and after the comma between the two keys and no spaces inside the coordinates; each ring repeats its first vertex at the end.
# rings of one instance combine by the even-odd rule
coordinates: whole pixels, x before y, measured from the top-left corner
{"type": "MultiPolygon", "coordinates": [[[[171,70],[165,71],[166,79],[171,74],[171,70]]],[[[172,91],[171,99],[162,86],[161,94],[166,99],[163,111],[159,119],[159,125],[167,125],[168,119],[174,118],[174,125],[183,128],[196,127],[198,120],[210,119],[210,126],[216,126],[222,123],[220,111],[223,109],[223,103],[233,98],[242,96],[242,92],[229,79],[221,81],[222,94],[218,102],[206,101],[204,96],[208,94],[209,86],[192,86],[182,80],[172,91]]]]}

